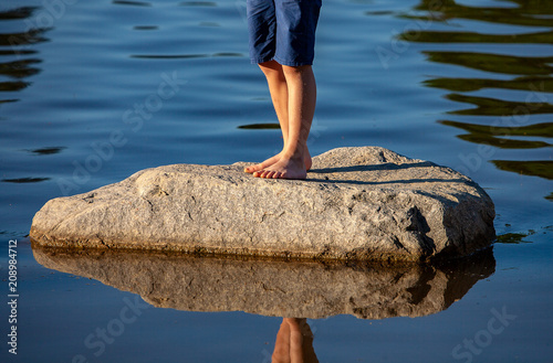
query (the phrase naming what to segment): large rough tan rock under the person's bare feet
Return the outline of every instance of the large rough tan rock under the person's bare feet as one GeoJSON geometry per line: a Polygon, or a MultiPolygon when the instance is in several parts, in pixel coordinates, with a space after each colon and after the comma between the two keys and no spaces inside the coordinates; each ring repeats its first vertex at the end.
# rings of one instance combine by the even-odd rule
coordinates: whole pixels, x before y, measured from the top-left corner
{"type": "Polygon", "coordinates": [[[469,178],[375,148],[313,160],[307,180],[174,164],[49,201],[39,245],[328,259],[427,260],[493,241],[493,203],[469,178]]]}

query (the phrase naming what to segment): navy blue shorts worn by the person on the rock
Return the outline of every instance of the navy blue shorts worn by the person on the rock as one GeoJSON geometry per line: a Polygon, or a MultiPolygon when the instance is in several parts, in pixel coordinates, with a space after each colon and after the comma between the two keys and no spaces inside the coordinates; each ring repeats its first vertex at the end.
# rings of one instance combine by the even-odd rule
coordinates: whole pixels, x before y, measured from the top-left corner
{"type": "Polygon", "coordinates": [[[251,63],[311,65],[321,0],[247,0],[251,63]]]}

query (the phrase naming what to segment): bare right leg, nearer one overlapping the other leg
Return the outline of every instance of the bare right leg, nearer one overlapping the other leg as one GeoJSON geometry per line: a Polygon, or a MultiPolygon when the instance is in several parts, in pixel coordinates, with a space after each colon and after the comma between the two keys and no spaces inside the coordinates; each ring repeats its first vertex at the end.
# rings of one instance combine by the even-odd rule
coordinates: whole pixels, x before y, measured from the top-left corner
{"type": "Polygon", "coordinates": [[[283,65],[282,74],[288,90],[288,137],[284,140],[282,152],[278,156],[279,160],[260,171],[253,172],[253,177],[305,179],[307,175],[306,164],[311,167],[307,137],[315,113],[315,77],[311,65],[283,65]]]}

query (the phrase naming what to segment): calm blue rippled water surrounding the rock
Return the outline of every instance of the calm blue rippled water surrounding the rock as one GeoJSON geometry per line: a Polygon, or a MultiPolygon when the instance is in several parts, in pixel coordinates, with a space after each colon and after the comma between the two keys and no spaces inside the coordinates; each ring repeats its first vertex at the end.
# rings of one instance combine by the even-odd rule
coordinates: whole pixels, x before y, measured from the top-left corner
{"type": "MultiPolygon", "coordinates": [[[[20,293],[18,355],[0,341],[2,362],[269,362],[280,318],[140,306],[116,330],[145,292],[79,266],[48,269],[27,237],[52,197],[149,167],[279,149],[244,14],[242,0],[2,1],[6,342],[15,238],[20,293]]],[[[319,360],[552,362],[553,2],[326,0],[317,36],[312,153],[382,146],[457,169],[495,202],[499,236],[484,263],[432,273],[469,282],[438,293],[447,303],[427,314],[309,319],[319,360]]],[[[436,279],[425,274],[405,291],[428,297],[436,279]]]]}

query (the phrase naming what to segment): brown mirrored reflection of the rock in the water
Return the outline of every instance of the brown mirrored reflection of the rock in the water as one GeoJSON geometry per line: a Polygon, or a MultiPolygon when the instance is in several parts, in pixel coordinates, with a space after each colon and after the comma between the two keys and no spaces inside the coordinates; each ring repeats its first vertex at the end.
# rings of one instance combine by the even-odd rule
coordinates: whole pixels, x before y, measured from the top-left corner
{"type": "Polygon", "coordinates": [[[461,299],[495,267],[490,249],[442,266],[71,252],[38,246],[33,253],[48,268],[138,293],[155,307],[311,319],[436,313],[461,299]]]}

